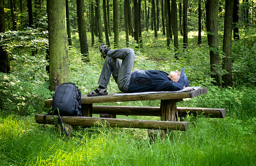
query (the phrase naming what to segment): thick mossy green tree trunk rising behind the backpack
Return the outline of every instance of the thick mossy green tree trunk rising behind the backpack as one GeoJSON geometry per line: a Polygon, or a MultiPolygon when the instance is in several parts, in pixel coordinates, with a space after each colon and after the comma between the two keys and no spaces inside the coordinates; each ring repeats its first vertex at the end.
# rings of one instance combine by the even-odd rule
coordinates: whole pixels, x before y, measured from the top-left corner
{"type": "Polygon", "coordinates": [[[56,91],[57,86],[69,82],[65,4],[65,0],[47,0],[51,91],[56,91]]]}

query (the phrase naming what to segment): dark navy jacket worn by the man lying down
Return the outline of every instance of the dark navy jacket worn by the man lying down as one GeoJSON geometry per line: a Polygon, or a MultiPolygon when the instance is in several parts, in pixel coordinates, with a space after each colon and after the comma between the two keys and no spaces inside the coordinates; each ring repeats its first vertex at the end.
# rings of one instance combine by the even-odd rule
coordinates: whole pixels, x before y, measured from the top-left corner
{"type": "Polygon", "coordinates": [[[168,75],[160,70],[135,70],[131,74],[127,93],[182,90],[185,85],[173,82],[168,75]]]}

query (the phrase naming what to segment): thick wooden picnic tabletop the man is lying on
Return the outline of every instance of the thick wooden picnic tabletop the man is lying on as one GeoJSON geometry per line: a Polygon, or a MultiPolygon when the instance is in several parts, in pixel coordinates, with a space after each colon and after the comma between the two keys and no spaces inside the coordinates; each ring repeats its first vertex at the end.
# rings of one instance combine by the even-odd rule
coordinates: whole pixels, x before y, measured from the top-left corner
{"type": "MultiPolygon", "coordinates": [[[[206,93],[207,93],[207,88],[198,88],[190,92],[146,94],[146,95],[132,95],[132,96],[113,96],[114,94],[108,94],[103,96],[89,97],[87,95],[82,95],[81,104],[129,102],[129,101],[144,101],[144,100],[185,99],[185,98],[194,98],[206,93]]],[[[52,106],[52,99],[45,100],[45,106],[52,106]]]]}

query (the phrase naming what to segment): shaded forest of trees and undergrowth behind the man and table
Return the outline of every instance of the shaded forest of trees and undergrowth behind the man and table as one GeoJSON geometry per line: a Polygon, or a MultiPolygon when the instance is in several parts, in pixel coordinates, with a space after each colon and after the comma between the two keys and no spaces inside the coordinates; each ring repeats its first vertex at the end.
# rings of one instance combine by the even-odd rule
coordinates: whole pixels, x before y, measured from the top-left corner
{"type": "MultiPolygon", "coordinates": [[[[234,4],[229,0],[0,0],[0,4],[4,4],[0,55],[8,57],[1,64],[9,65],[1,73],[1,109],[17,111],[20,105],[35,111],[30,104],[50,98],[63,82],[75,83],[83,93],[94,89],[103,63],[100,43],[112,49],[132,48],[137,58],[134,69],[169,72],[186,67],[191,86],[256,84],[253,0],[234,4]],[[57,18],[56,13],[64,15],[57,18]],[[62,27],[58,21],[62,30],[57,29],[62,27]]],[[[113,80],[109,87],[119,92],[113,80]]]]}

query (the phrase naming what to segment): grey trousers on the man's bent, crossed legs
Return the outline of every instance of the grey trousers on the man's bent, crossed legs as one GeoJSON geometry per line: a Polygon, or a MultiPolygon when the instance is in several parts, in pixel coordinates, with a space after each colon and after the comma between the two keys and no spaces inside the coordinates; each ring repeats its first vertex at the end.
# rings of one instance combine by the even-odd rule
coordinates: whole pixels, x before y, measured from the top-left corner
{"type": "Polygon", "coordinates": [[[118,88],[126,93],[130,83],[133,61],[134,52],[132,49],[109,50],[98,84],[107,88],[112,74],[118,88]],[[122,59],[122,62],[120,59],[122,59]]]}

